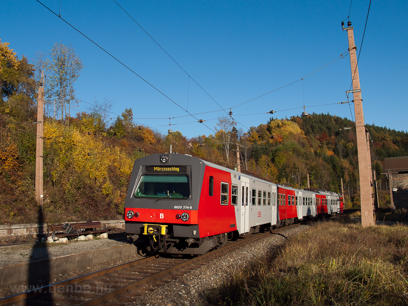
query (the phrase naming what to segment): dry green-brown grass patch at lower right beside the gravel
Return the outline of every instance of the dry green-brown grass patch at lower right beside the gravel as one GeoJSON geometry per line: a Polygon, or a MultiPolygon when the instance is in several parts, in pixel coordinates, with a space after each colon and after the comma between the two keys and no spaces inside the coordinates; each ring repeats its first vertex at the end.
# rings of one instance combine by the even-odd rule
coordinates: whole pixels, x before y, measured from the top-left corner
{"type": "Polygon", "coordinates": [[[408,305],[408,227],[324,222],[207,293],[206,305],[408,305]]]}

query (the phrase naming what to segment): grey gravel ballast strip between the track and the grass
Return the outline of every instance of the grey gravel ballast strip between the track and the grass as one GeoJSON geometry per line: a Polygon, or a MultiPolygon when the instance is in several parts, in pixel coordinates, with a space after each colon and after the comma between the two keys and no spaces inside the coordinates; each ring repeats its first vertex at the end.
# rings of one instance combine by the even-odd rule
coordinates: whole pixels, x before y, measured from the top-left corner
{"type": "Polygon", "coordinates": [[[177,281],[158,288],[129,305],[140,306],[184,306],[201,305],[205,300],[205,292],[219,287],[230,278],[235,271],[248,266],[253,260],[265,256],[271,248],[284,243],[292,236],[307,231],[308,225],[288,228],[278,235],[271,235],[261,242],[254,242],[237,251],[228,253],[199,269],[196,269],[177,281]]]}

